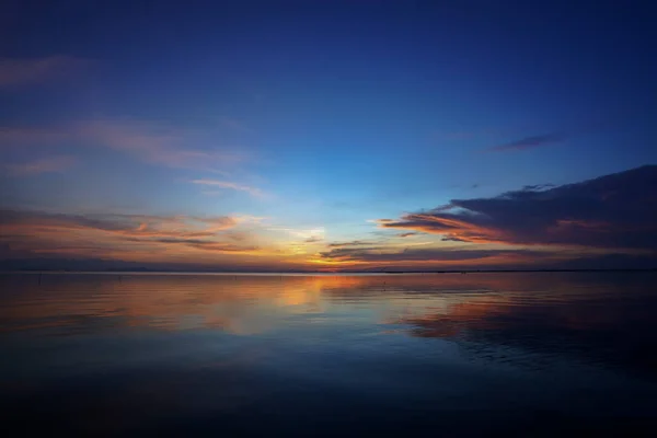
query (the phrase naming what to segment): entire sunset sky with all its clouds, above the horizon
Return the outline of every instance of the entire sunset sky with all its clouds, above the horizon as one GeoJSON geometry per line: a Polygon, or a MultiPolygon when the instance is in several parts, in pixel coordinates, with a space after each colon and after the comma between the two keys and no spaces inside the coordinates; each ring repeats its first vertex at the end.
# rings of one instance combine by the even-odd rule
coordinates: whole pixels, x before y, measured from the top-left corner
{"type": "Polygon", "coordinates": [[[0,268],[657,267],[656,19],[4,1],[0,268]]]}

